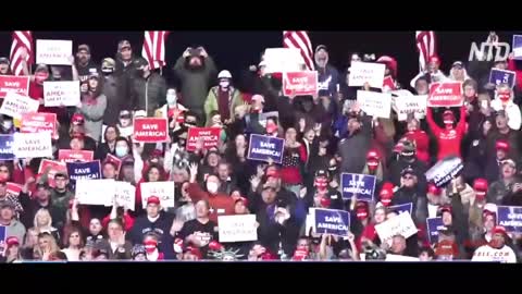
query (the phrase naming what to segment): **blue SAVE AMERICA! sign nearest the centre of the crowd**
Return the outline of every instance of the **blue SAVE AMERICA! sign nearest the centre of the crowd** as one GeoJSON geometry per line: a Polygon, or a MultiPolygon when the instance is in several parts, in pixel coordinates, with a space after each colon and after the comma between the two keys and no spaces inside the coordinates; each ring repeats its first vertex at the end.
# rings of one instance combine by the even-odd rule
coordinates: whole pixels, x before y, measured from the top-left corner
{"type": "Polygon", "coordinates": [[[285,140],[282,138],[251,134],[247,158],[260,161],[269,161],[269,158],[272,158],[274,162],[281,164],[284,148],[285,140]]]}

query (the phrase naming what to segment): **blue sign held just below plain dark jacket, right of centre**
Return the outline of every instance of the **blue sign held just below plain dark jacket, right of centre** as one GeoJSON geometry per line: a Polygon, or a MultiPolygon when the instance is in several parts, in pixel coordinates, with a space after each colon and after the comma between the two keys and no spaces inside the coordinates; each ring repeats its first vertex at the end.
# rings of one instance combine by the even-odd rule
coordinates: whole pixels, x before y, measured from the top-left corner
{"type": "Polygon", "coordinates": [[[358,200],[373,201],[376,182],[375,175],[343,173],[340,182],[344,199],[351,199],[353,194],[356,194],[358,200]]]}

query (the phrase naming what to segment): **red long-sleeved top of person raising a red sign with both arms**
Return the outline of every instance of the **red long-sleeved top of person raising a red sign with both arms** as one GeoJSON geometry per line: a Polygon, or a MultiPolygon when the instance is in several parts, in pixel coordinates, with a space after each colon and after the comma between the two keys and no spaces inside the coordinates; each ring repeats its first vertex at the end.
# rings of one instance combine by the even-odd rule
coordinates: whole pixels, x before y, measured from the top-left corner
{"type": "Polygon", "coordinates": [[[432,109],[427,108],[426,115],[427,124],[432,128],[433,134],[437,137],[438,142],[438,156],[440,160],[450,155],[457,155],[460,157],[460,142],[465,133],[465,107],[460,108],[460,121],[457,127],[451,130],[442,128],[433,120],[432,109]]]}

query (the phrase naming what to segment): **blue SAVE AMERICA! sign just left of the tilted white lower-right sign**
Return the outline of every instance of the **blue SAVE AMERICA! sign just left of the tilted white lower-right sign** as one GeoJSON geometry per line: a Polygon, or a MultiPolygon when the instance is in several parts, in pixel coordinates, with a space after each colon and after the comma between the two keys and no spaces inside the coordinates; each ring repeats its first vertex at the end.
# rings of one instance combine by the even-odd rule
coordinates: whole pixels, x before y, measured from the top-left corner
{"type": "Polygon", "coordinates": [[[350,231],[350,213],[337,209],[314,209],[315,233],[347,236],[350,231]]]}

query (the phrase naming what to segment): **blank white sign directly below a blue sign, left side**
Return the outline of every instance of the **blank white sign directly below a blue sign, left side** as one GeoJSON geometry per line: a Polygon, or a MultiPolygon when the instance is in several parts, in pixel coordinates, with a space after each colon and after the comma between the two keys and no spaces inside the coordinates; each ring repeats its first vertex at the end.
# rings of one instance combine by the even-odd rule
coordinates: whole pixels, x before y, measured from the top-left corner
{"type": "Polygon", "coordinates": [[[115,193],[114,179],[76,181],[76,198],[83,205],[107,205],[115,193]]]}

